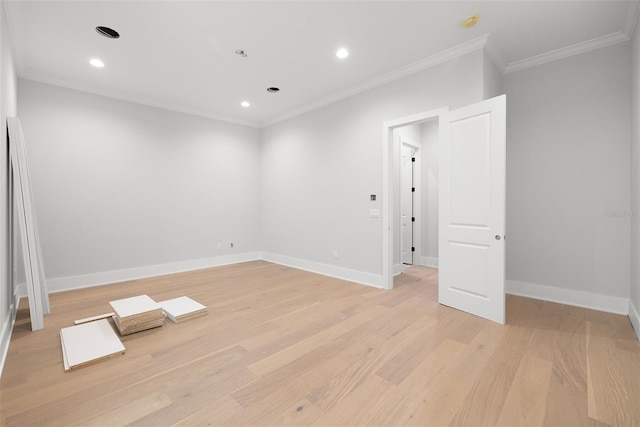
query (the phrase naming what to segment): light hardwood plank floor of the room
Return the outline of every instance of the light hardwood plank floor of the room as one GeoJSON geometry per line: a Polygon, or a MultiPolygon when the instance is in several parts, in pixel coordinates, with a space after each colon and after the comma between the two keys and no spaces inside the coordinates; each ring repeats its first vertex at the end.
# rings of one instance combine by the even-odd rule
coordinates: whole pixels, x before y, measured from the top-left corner
{"type": "Polygon", "coordinates": [[[6,426],[640,425],[625,316],[507,298],[501,326],[437,303],[437,270],[382,291],[256,261],[21,301],[0,380],[6,426]],[[65,372],[60,328],[108,301],[182,295],[208,315],[122,338],[65,372]]]}

